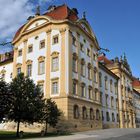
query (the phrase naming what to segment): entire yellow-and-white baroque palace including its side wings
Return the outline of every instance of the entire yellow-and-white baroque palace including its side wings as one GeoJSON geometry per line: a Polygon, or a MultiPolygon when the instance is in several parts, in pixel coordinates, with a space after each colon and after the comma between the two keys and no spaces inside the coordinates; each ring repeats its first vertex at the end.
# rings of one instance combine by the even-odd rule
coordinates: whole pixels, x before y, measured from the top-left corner
{"type": "Polygon", "coordinates": [[[13,52],[0,55],[6,82],[23,72],[52,98],[72,130],[135,128],[132,73],[126,57],[99,55],[96,36],[76,8],[51,6],[29,17],[15,34],[13,52]]]}

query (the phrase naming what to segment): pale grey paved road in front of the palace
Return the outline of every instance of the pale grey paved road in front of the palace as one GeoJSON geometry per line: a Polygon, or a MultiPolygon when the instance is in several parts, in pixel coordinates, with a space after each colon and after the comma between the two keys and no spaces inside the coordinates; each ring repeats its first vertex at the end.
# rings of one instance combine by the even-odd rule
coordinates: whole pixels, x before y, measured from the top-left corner
{"type": "Polygon", "coordinates": [[[140,128],[86,131],[74,133],[70,136],[40,138],[40,140],[140,140],[140,128]]]}

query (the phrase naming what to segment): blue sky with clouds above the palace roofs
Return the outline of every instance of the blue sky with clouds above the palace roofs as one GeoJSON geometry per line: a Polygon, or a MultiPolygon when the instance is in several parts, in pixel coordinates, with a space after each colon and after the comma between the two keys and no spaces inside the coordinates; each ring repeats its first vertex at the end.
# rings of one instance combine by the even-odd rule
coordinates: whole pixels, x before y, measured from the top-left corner
{"type": "MultiPolygon", "coordinates": [[[[124,53],[132,73],[140,77],[140,0],[0,0],[0,43],[11,41],[18,28],[34,15],[37,5],[44,13],[50,5],[67,4],[86,12],[101,48],[110,59],[124,53]]],[[[0,46],[0,53],[9,46],[0,46]]]]}

